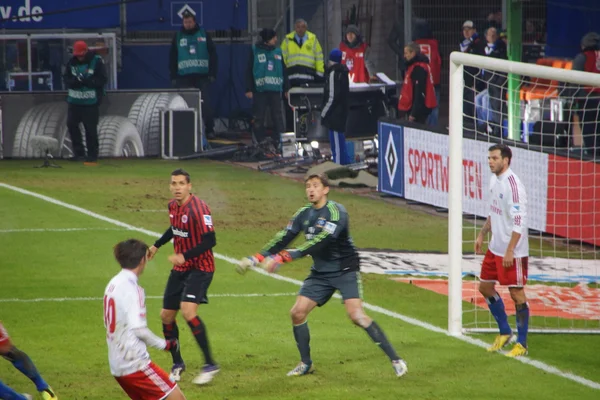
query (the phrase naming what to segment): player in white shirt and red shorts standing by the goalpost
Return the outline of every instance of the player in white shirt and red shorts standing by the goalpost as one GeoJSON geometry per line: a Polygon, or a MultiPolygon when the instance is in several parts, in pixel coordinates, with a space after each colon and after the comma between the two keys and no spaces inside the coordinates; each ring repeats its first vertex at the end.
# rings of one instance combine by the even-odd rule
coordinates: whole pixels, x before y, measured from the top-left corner
{"type": "Polygon", "coordinates": [[[525,297],[529,242],[527,231],[527,194],[525,188],[510,169],[512,152],[504,144],[489,148],[488,164],[493,175],[489,187],[489,214],[475,242],[475,253],[482,254],[482,244],[491,231],[485,258],[481,264],[479,292],[488,303],[500,328],[500,334],[488,351],[499,351],[514,342],[508,324],[502,297],[496,292],[496,281],[508,286],[517,311],[517,342],[507,354],[509,357],[527,355],[527,330],[529,306],[525,297]]]}

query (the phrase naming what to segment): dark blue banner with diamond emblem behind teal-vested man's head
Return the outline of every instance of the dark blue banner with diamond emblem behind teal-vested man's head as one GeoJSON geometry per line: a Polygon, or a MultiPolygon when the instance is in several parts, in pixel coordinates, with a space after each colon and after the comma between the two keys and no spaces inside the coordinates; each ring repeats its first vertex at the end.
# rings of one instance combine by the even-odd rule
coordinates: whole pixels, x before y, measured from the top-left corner
{"type": "Polygon", "coordinates": [[[186,11],[206,30],[248,28],[247,0],[148,0],[127,4],[127,30],[176,31],[186,11]]]}

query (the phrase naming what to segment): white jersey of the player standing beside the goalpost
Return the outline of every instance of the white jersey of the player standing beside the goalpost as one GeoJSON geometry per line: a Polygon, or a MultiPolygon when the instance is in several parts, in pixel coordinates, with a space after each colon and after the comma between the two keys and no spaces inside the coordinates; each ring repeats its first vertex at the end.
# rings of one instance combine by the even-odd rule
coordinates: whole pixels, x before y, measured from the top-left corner
{"type": "Polygon", "coordinates": [[[502,175],[492,175],[489,187],[489,216],[492,240],[489,250],[504,257],[513,232],[521,234],[514,250],[515,258],[529,256],[527,230],[527,194],[521,180],[509,168],[502,175]]]}

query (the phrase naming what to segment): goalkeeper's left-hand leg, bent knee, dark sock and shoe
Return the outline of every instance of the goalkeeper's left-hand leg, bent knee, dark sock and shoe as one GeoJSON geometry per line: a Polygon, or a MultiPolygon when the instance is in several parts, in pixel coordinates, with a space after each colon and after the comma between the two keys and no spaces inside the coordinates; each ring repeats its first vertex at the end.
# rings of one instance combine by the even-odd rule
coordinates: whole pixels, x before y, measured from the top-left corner
{"type": "Polygon", "coordinates": [[[312,359],[310,358],[310,331],[308,330],[308,314],[315,309],[317,303],[305,296],[297,296],[296,303],[290,310],[290,317],[294,326],[294,339],[300,352],[300,363],[287,373],[288,376],[302,376],[311,372],[312,359]]]}

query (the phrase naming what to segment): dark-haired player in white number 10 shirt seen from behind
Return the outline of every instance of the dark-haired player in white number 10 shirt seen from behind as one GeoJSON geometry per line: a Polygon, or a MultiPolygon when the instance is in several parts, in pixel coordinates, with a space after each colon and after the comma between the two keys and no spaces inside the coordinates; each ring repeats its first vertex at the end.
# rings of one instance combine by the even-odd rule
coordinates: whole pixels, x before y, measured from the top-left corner
{"type": "Polygon", "coordinates": [[[146,295],[138,286],[144,272],[148,246],[129,239],[114,247],[121,265],[104,291],[104,326],[110,372],[131,399],[185,400],[177,384],[150,360],[146,345],[169,351],[179,346],[176,339],[155,336],[146,323],[146,295]]]}

